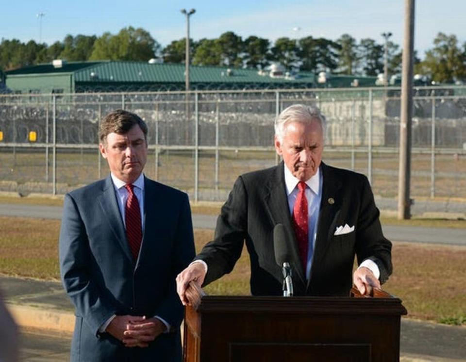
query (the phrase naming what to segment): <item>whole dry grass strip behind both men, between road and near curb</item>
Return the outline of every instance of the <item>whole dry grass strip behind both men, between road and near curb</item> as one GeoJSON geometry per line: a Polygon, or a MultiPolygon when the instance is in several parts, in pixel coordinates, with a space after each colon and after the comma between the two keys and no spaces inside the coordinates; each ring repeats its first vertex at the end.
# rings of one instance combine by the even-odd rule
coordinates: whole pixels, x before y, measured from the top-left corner
{"type": "MultiPolygon", "coordinates": [[[[60,221],[0,217],[0,273],[47,280],[59,278],[60,221]]],[[[213,230],[195,230],[196,251],[213,238],[213,230]]],[[[408,317],[466,324],[466,247],[395,243],[394,274],[384,290],[400,297],[408,317]]],[[[246,250],[233,272],[206,288],[209,294],[247,295],[246,250]]]]}

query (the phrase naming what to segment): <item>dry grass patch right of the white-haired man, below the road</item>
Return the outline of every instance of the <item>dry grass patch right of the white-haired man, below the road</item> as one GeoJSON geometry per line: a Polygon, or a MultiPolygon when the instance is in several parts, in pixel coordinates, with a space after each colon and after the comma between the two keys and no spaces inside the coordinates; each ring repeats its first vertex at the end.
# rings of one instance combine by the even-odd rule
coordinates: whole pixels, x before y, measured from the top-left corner
{"type": "Polygon", "coordinates": [[[410,317],[466,324],[466,247],[394,243],[392,258],[383,288],[410,317]]]}

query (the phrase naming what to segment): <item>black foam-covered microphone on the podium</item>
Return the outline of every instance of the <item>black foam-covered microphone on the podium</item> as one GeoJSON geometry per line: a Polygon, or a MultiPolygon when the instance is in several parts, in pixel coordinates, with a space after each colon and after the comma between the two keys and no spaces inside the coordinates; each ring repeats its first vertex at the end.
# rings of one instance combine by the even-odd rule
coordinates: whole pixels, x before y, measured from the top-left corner
{"type": "Polygon", "coordinates": [[[293,280],[291,278],[290,248],[288,247],[283,224],[277,224],[273,228],[273,249],[275,262],[282,267],[283,273],[283,296],[293,296],[293,280]]]}

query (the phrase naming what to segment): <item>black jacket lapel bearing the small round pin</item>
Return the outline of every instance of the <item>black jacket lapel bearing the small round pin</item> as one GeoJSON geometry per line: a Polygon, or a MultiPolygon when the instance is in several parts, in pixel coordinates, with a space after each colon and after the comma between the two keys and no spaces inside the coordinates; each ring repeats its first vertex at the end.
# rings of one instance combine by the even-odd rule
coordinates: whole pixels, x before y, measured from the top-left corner
{"type": "Polygon", "coordinates": [[[321,165],[323,173],[322,200],[320,201],[319,219],[317,221],[317,236],[312,269],[320,265],[320,262],[330,245],[330,239],[333,235],[333,230],[336,225],[337,216],[341,209],[340,206],[342,202],[339,197],[339,189],[342,185],[341,180],[338,180],[332,175],[332,170],[329,166],[324,163],[321,165]]]}

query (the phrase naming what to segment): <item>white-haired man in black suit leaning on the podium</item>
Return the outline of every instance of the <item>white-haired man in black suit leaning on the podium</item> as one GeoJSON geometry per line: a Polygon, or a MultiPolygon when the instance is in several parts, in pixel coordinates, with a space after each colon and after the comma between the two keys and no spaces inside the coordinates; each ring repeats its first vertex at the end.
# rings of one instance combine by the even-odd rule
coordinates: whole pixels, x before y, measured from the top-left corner
{"type": "Polygon", "coordinates": [[[283,162],[240,176],[208,243],[177,277],[183,302],[187,285],[206,285],[250,254],[253,295],[281,295],[282,268],[274,257],[273,230],[283,224],[292,240],[290,265],[297,296],[348,296],[351,281],[365,294],[392,271],[391,243],[383,237],[367,178],[321,162],[325,118],[296,104],[275,121],[275,149],[283,162]],[[354,256],[359,267],[352,280],[354,256]]]}

